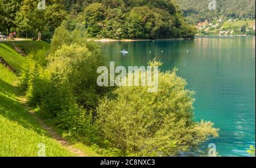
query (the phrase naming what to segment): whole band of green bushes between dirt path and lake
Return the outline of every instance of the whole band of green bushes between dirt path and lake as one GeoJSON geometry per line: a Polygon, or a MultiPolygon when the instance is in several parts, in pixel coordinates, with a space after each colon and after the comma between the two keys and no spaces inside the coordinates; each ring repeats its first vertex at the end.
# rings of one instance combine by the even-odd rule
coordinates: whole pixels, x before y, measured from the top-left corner
{"type": "Polygon", "coordinates": [[[17,68],[18,83],[36,116],[101,156],[177,156],[218,136],[212,122],[193,121],[195,93],[176,69],[159,71],[155,93],[142,86],[99,87],[96,70],[106,60],[83,33],[69,31],[64,21],[50,48],[32,50],[42,41],[15,42],[28,53],[17,68]]]}

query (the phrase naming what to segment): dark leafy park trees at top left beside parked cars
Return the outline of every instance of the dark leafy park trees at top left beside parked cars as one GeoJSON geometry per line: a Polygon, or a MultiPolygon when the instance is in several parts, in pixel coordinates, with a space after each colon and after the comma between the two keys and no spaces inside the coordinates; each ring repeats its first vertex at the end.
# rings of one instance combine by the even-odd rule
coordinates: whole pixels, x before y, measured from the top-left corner
{"type": "Polygon", "coordinates": [[[38,10],[38,3],[34,0],[0,0],[0,32],[4,35],[17,32],[18,37],[50,41],[67,12],[62,1],[46,1],[46,10],[38,10]]]}

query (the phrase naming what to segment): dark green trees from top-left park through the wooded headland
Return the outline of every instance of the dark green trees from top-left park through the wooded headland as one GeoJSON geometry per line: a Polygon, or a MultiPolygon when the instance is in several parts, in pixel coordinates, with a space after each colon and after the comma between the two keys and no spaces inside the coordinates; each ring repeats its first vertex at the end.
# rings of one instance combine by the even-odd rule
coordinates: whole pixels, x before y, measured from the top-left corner
{"type": "Polygon", "coordinates": [[[69,30],[80,27],[92,38],[190,38],[196,33],[174,0],[51,0],[46,10],[37,5],[32,0],[0,0],[1,32],[49,41],[65,19],[69,30]]]}

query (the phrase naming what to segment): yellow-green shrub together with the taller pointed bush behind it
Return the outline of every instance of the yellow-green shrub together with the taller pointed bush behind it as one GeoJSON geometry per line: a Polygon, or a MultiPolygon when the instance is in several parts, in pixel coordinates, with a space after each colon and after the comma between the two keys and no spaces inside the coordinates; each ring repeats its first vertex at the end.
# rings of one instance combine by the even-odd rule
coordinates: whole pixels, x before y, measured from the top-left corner
{"type": "Polygon", "coordinates": [[[97,86],[97,68],[104,64],[98,45],[88,41],[81,29],[67,31],[64,21],[56,29],[47,70],[59,69],[64,80],[84,107],[95,107],[102,89],[97,86]]]}

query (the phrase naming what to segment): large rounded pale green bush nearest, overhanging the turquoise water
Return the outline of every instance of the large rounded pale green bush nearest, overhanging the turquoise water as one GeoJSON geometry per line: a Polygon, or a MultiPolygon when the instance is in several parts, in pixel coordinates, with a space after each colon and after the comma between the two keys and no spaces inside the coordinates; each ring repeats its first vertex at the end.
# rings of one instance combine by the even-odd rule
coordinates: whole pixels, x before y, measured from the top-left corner
{"type": "Polygon", "coordinates": [[[159,72],[155,93],[147,87],[117,88],[97,108],[96,124],[104,139],[124,156],[174,156],[218,136],[213,123],[193,122],[194,93],[185,85],[174,70],[159,72]]]}

